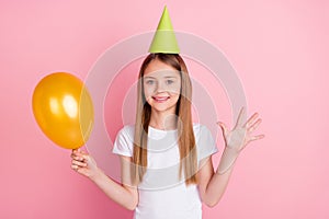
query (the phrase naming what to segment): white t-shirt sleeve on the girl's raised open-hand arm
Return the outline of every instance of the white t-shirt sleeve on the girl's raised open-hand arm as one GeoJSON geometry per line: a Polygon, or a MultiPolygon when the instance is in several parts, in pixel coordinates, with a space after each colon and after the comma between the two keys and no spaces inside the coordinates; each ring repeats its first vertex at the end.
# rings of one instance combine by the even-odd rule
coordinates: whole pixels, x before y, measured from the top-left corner
{"type": "Polygon", "coordinates": [[[202,159],[218,152],[218,149],[211,130],[203,125],[200,125],[197,128],[195,141],[197,147],[197,160],[201,161],[202,159]]]}

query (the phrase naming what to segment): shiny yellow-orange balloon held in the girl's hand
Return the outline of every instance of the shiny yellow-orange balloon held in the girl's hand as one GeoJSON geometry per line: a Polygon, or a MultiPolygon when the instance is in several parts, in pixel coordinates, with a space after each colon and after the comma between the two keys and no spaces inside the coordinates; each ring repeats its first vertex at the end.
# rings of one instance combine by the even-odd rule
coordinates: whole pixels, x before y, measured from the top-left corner
{"type": "Polygon", "coordinates": [[[83,146],[93,126],[91,96],[78,78],[56,72],[43,78],[33,92],[34,117],[43,132],[66,149],[83,146]]]}

